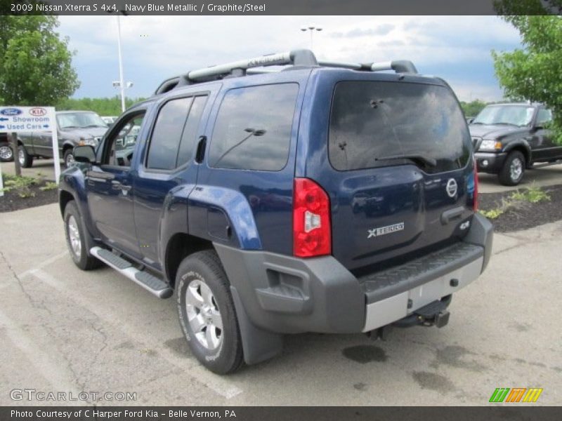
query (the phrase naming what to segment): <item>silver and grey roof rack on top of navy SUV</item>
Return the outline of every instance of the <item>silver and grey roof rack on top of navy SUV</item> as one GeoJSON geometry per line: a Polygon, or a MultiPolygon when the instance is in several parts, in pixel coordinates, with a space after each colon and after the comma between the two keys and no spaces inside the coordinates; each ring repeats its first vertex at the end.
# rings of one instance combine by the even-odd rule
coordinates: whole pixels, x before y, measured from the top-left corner
{"type": "Polygon", "coordinates": [[[316,60],[316,56],[310,50],[293,50],[287,53],[261,55],[260,57],[239,60],[223,65],[215,65],[204,69],[192,70],[180,76],[166,79],[155,91],[155,95],[171,91],[180,86],[190,85],[223,79],[225,77],[246,76],[247,74],[262,74],[278,72],[275,69],[264,69],[268,66],[299,66],[299,67],[339,67],[344,69],[361,70],[367,72],[380,72],[382,70],[394,70],[396,73],[417,74],[417,69],[409,60],[395,60],[379,63],[349,63],[316,60]],[[260,69],[256,69],[260,67],[260,69]]]}

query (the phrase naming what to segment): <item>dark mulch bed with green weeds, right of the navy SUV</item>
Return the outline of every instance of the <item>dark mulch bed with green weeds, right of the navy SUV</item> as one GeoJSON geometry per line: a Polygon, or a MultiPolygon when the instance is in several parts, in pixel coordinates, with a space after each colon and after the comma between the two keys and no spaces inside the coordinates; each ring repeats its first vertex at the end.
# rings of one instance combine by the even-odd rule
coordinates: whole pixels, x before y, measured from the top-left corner
{"type": "MultiPolygon", "coordinates": [[[[523,190],[523,189],[521,189],[523,190]]],[[[562,219],[562,185],[543,187],[550,196],[549,201],[539,203],[518,202],[513,208],[490,220],[495,232],[511,232],[562,219]]],[[[481,193],[478,208],[492,210],[502,206],[502,199],[508,199],[513,192],[481,193]]]]}

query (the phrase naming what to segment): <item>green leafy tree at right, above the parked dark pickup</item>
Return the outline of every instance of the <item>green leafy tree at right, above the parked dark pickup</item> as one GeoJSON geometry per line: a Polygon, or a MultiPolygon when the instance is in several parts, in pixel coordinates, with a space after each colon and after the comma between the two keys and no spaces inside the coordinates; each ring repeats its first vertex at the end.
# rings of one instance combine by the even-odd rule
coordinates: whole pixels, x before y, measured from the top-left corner
{"type": "MultiPolygon", "coordinates": [[[[556,8],[561,0],[551,0],[556,8]]],[[[504,20],[521,34],[523,48],[510,53],[492,51],[499,84],[508,98],[542,102],[553,111],[552,129],[562,144],[562,18],[539,13],[539,0],[505,0],[496,3],[504,20]],[[529,13],[518,15],[518,13],[529,13]]],[[[549,10],[542,9],[542,13],[549,10]]]]}

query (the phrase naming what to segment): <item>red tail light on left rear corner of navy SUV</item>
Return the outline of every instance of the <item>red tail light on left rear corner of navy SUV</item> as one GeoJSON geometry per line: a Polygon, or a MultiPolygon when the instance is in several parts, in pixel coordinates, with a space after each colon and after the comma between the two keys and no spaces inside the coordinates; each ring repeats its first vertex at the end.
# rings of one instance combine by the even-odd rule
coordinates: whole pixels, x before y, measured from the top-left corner
{"type": "Polygon", "coordinates": [[[293,254],[299,258],[332,253],[329,198],[313,180],[295,178],[293,190],[293,254]]]}

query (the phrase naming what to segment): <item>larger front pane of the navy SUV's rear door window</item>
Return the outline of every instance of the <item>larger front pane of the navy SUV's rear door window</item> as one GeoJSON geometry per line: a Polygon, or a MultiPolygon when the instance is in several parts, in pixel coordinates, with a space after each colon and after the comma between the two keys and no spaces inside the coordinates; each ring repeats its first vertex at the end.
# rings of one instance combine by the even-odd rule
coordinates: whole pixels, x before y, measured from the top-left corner
{"type": "Polygon", "coordinates": [[[150,147],[148,149],[147,168],[155,170],[173,170],[178,159],[183,126],[193,98],[171,100],[158,113],[150,147]]]}

